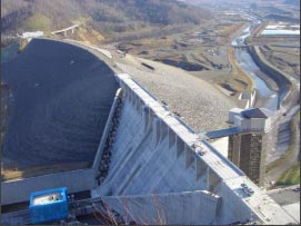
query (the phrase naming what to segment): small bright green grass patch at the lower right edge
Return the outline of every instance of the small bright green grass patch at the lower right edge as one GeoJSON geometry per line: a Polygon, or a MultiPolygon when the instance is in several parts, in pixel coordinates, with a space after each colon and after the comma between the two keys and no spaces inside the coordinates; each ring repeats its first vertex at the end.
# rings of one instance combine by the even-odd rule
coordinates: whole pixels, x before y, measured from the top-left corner
{"type": "Polygon", "coordinates": [[[289,186],[300,184],[300,163],[284,171],[279,180],[277,181],[278,186],[289,186]]]}

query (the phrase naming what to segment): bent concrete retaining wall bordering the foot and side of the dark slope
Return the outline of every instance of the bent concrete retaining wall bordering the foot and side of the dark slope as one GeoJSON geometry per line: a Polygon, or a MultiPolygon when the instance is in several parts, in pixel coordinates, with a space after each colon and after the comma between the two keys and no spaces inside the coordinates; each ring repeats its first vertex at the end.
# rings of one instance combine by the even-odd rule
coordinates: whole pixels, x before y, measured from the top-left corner
{"type": "Polygon", "coordinates": [[[30,194],[37,190],[67,187],[68,193],[78,193],[94,188],[104,144],[112,127],[113,115],[121,96],[122,90],[118,89],[91,168],[1,181],[1,204],[27,202],[30,194]]]}

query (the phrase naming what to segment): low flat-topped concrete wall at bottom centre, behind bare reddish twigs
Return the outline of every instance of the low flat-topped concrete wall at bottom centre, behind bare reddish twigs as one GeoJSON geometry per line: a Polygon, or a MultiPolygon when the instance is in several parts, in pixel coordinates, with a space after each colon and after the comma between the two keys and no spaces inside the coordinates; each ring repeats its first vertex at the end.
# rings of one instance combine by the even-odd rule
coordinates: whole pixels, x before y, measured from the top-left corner
{"type": "Polygon", "coordinates": [[[127,223],[139,225],[211,225],[215,223],[221,198],[205,190],[123,197],[103,197],[109,209],[127,223]],[[191,204],[194,203],[193,208],[191,204]]]}

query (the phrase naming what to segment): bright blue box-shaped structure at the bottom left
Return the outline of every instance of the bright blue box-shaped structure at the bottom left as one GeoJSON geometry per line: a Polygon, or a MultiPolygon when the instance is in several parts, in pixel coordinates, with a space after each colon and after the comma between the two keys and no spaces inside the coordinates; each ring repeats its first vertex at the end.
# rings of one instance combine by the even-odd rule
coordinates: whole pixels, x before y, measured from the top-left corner
{"type": "Polygon", "coordinates": [[[67,218],[67,188],[32,193],[30,195],[29,212],[32,224],[67,218]]]}

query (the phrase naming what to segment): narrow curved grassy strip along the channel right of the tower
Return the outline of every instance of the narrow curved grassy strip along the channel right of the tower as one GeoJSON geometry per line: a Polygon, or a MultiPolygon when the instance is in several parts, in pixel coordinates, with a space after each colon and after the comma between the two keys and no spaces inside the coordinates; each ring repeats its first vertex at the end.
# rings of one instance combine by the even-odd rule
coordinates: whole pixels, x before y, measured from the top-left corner
{"type": "Polygon", "coordinates": [[[298,114],[294,115],[294,117],[292,118],[292,121],[291,121],[292,140],[291,140],[291,144],[290,144],[288,151],[281,158],[269,164],[267,166],[267,171],[270,171],[271,169],[273,169],[282,164],[285,164],[292,157],[293,150],[295,149],[295,145],[297,145],[297,138],[295,138],[297,137],[297,126],[298,126],[297,122],[298,122],[299,117],[300,117],[300,110],[298,111],[298,114]]]}

